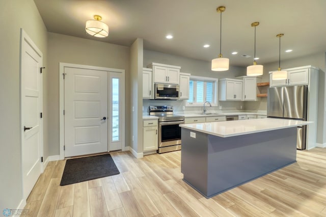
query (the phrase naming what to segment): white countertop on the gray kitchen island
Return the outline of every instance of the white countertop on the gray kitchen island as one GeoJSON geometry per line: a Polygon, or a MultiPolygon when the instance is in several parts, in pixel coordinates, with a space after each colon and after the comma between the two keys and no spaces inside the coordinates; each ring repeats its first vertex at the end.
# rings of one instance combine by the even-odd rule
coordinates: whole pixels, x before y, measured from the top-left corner
{"type": "Polygon", "coordinates": [[[279,118],[260,118],[237,121],[220,121],[208,123],[180,124],[180,127],[199,131],[218,137],[234,137],[236,135],[251,134],[269,130],[284,129],[313,123],[279,118]]]}

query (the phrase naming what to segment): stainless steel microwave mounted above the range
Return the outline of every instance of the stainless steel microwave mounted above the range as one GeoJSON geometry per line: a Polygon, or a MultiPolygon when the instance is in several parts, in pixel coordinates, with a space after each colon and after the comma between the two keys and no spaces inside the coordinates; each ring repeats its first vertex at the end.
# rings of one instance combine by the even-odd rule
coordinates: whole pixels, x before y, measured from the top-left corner
{"type": "Polygon", "coordinates": [[[155,84],[154,99],[179,99],[179,85],[155,84]]]}

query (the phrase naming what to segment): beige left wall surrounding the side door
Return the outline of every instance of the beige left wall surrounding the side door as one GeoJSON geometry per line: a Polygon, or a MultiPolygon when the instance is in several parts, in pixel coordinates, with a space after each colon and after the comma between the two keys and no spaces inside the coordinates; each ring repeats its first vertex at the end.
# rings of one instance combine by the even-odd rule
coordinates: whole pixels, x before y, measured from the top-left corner
{"type": "MultiPolygon", "coordinates": [[[[16,209],[22,200],[20,147],[20,28],[47,62],[47,31],[33,0],[0,1],[0,210],[16,209]]],[[[43,80],[47,75],[43,74],[43,80]]],[[[43,94],[46,94],[44,84],[43,94]]],[[[45,98],[45,96],[44,96],[45,98]]],[[[45,100],[44,100],[45,101],[45,100]]],[[[45,108],[45,106],[44,106],[45,108]]],[[[46,118],[43,119],[44,125],[46,118]]],[[[44,136],[44,139],[46,137],[44,136]]],[[[47,154],[47,147],[44,147],[47,154]]]]}

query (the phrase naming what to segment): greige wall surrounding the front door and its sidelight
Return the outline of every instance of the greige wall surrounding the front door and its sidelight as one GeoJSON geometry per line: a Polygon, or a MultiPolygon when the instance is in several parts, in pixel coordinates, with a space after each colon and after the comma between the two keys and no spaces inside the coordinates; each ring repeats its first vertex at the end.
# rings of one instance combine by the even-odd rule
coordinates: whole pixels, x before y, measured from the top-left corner
{"type": "MultiPolygon", "coordinates": [[[[49,155],[59,155],[59,63],[72,63],[90,66],[101,66],[125,70],[126,108],[130,107],[129,80],[130,48],[89,39],[82,39],[56,33],[48,33],[48,141],[49,155]]],[[[60,76],[60,78],[62,78],[60,76]]],[[[130,141],[130,110],[125,111],[126,146],[130,141]]],[[[46,114],[45,114],[46,116],[46,114]]]]}

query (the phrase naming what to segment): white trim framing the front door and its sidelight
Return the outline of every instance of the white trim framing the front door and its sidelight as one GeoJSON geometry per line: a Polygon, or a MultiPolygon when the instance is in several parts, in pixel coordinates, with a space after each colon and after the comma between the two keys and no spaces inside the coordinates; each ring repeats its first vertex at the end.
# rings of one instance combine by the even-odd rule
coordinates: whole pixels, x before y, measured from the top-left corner
{"type": "MultiPolygon", "coordinates": [[[[65,158],[64,154],[64,144],[65,144],[65,117],[64,117],[64,105],[65,105],[65,90],[64,90],[64,79],[63,79],[63,74],[64,74],[64,69],[65,67],[71,67],[71,68],[82,68],[82,69],[92,69],[92,70],[100,70],[100,71],[107,71],[109,72],[118,72],[122,73],[123,75],[123,83],[125,83],[124,80],[124,74],[125,70],[124,69],[114,69],[114,68],[106,68],[106,67],[99,67],[99,66],[88,66],[88,65],[80,65],[80,64],[72,64],[72,63],[59,63],[59,152],[60,152],[60,159],[65,158]]],[[[121,105],[121,114],[123,114],[123,124],[124,122],[124,116],[125,116],[125,84],[123,84],[122,88],[123,92],[121,93],[121,102],[123,103],[121,105]]],[[[109,128],[108,128],[109,129],[109,128]]],[[[125,131],[124,127],[121,127],[121,136],[124,138],[125,131]]],[[[107,142],[109,144],[109,142],[107,142]]],[[[122,144],[122,151],[125,150],[125,144],[123,141],[122,144]]]]}

